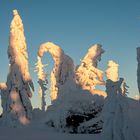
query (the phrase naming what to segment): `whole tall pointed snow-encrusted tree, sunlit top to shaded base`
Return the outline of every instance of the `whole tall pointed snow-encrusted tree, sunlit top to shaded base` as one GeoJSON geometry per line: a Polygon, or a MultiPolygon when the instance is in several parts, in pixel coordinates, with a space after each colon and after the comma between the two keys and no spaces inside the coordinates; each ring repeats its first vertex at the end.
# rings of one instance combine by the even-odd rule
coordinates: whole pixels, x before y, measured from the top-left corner
{"type": "Polygon", "coordinates": [[[27,46],[22,20],[13,10],[10,26],[8,57],[9,74],[5,89],[2,90],[2,123],[11,127],[26,125],[32,118],[30,97],[34,90],[28,69],[27,46]]]}

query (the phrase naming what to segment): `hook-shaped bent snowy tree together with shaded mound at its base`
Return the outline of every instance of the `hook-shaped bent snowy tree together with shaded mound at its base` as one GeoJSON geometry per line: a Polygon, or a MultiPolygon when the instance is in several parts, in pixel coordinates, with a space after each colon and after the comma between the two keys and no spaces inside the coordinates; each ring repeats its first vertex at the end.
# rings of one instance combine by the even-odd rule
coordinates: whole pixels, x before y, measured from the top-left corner
{"type": "MultiPolygon", "coordinates": [[[[45,52],[50,53],[54,60],[50,79],[52,104],[46,110],[46,125],[65,133],[82,133],[87,127],[87,133],[99,133],[102,128],[100,120],[92,121],[93,124],[86,128],[82,124],[100,115],[104,98],[93,96],[77,85],[73,60],[59,46],[44,43],[38,50],[38,56],[42,57],[45,52]]],[[[100,75],[98,69],[94,71],[100,75]]]]}

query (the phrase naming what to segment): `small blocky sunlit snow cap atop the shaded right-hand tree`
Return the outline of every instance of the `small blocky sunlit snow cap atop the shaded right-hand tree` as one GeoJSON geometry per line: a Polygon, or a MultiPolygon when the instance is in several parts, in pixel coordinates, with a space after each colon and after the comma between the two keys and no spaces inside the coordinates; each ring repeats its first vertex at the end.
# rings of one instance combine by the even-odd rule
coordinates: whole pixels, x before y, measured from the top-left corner
{"type": "Polygon", "coordinates": [[[114,61],[110,60],[108,62],[108,68],[106,70],[107,79],[110,79],[113,82],[118,81],[118,67],[119,65],[114,61]]]}

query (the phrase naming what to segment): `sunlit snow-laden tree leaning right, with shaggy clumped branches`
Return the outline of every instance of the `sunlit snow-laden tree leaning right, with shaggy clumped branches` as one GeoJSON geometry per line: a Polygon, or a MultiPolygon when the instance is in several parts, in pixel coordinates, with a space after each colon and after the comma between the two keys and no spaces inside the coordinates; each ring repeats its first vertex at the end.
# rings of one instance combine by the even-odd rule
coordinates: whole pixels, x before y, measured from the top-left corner
{"type": "Polygon", "coordinates": [[[102,53],[104,53],[104,50],[99,44],[95,44],[88,49],[88,53],[81,61],[81,65],[76,68],[76,80],[82,89],[89,90],[92,94],[106,96],[105,92],[95,89],[96,85],[105,85],[103,71],[97,68],[102,53]]]}

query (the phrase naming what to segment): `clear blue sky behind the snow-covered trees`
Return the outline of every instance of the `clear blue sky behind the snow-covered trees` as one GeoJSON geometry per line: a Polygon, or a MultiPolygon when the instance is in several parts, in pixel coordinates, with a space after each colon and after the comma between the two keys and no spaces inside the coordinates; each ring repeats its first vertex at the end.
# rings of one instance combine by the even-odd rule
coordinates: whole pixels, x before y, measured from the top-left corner
{"type": "MultiPolygon", "coordinates": [[[[99,68],[105,70],[108,60],[119,63],[120,77],[130,86],[130,96],[138,94],[136,83],[136,47],[140,46],[140,0],[0,0],[0,81],[8,73],[7,47],[12,10],[17,9],[23,20],[28,45],[29,63],[36,91],[37,77],[33,72],[41,43],[52,41],[80,63],[87,49],[95,43],[105,53],[99,68]]],[[[51,62],[45,55],[44,62],[51,62]]],[[[49,68],[50,69],[50,68],[49,68]]]]}

